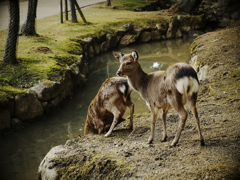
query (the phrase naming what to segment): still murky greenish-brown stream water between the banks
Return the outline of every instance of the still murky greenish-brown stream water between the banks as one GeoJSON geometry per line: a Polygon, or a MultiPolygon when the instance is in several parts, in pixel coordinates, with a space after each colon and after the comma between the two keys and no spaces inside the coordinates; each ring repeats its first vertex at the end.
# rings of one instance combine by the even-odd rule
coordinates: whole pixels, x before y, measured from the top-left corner
{"type": "MultiPolygon", "coordinates": [[[[137,50],[139,62],[145,72],[164,70],[176,62],[188,62],[192,39],[167,40],[133,45],[118,49],[123,53],[137,50]]],[[[83,135],[87,108],[102,82],[115,76],[118,61],[111,52],[101,54],[90,63],[91,74],[85,87],[41,121],[32,122],[12,133],[0,137],[0,180],[34,180],[37,169],[46,153],[69,138],[83,135]]],[[[132,93],[135,113],[148,111],[145,102],[132,93]]],[[[129,113],[126,112],[125,116],[129,113]]]]}

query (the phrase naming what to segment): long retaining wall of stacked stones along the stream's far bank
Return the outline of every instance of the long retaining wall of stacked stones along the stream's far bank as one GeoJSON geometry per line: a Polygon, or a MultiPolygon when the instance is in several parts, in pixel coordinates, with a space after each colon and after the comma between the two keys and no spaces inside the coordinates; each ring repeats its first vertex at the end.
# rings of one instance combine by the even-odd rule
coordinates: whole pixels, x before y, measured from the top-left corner
{"type": "Polygon", "coordinates": [[[86,82],[88,59],[99,53],[133,43],[197,36],[201,30],[204,30],[205,25],[204,16],[181,15],[172,16],[169,20],[157,23],[153,27],[144,28],[126,24],[112,34],[84,38],[79,44],[84,49],[83,55],[77,63],[69,66],[61,81],[41,82],[25,90],[23,94],[6,102],[0,102],[0,130],[54,111],[72,95],[74,87],[82,86],[86,82]]]}

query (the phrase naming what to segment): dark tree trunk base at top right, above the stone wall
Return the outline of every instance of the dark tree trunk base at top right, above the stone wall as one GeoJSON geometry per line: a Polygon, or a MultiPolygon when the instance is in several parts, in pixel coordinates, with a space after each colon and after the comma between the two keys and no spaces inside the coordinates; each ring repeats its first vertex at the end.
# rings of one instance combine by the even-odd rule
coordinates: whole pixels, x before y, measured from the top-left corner
{"type": "Polygon", "coordinates": [[[179,0],[170,10],[173,12],[192,13],[203,0],[179,0]]]}

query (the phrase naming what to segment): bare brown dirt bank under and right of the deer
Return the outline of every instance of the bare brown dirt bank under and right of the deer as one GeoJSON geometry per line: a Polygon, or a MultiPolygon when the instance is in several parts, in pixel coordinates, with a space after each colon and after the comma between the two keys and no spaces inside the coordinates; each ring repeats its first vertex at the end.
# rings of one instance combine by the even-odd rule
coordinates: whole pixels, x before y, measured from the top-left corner
{"type": "Polygon", "coordinates": [[[134,118],[134,130],[120,124],[109,138],[88,135],[53,148],[39,167],[46,179],[239,179],[240,178],[240,22],[204,34],[191,45],[191,64],[201,89],[198,111],[206,145],[198,141],[190,114],[179,144],[170,148],[178,115],[167,118],[168,140],[147,144],[151,115],[134,118]]]}

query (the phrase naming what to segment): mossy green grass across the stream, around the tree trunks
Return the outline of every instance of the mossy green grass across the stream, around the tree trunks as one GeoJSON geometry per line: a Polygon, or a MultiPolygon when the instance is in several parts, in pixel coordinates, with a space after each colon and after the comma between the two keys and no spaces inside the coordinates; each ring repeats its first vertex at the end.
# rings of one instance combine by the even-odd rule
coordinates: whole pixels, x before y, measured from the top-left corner
{"type": "MultiPolygon", "coordinates": [[[[121,9],[106,8],[104,3],[83,9],[87,24],[82,23],[80,16],[79,23],[65,21],[60,24],[59,15],[37,20],[38,37],[19,36],[18,64],[8,65],[0,61],[0,100],[41,81],[61,79],[62,72],[83,53],[84,37],[112,33],[126,23],[146,27],[168,19],[156,12],[124,10],[146,4],[139,0],[112,3],[121,9]]],[[[0,60],[4,56],[6,36],[7,30],[0,31],[0,60]]]]}

